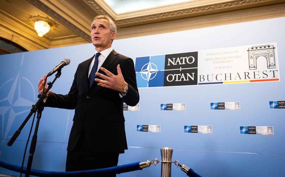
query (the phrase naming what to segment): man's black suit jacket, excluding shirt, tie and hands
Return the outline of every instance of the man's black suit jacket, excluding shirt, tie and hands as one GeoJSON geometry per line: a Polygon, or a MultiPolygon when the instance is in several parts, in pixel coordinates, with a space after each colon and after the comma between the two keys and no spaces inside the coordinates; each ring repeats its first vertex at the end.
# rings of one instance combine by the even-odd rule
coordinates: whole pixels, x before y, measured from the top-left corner
{"type": "MultiPolygon", "coordinates": [[[[127,140],[123,102],[135,106],[139,101],[134,63],[131,58],[112,50],[102,64],[115,75],[120,64],[122,75],[128,83],[128,92],[121,98],[118,91],[98,86],[95,81],[89,88],[88,70],[93,57],[78,65],[70,92],[67,95],[50,93],[44,106],[75,109],[67,151],[75,148],[84,126],[87,147],[91,152],[124,153],[127,140]]],[[[99,73],[105,74],[101,70],[99,73]]]]}

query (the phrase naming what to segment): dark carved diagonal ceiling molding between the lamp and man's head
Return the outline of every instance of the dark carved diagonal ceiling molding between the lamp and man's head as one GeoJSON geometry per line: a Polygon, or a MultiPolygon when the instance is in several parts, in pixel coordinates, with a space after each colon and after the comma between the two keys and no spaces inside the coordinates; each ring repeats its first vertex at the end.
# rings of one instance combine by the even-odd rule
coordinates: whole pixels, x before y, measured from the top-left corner
{"type": "Polygon", "coordinates": [[[74,31],[79,36],[83,37],[86,41],[91,42],[91,37],[89,34],[85,33],[78,26],[74,25],[73,23],[63,18],[61,15],[55,12],[52,8],[45,5],[43,2],[40,2],[39,0],[28,0],[28,1],[32,3],[34,6],[38,7],[43,12],[49,14],[51,17],[56,19],[58,22],[60,22],[64,26],[74,31]]]}

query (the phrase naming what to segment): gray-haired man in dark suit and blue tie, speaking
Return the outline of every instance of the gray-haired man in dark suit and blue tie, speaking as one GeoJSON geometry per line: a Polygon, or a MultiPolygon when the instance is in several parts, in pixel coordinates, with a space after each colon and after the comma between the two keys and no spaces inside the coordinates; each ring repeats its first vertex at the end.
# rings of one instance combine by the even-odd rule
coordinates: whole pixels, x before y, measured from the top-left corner
{"type": "MultiPolygon", "coordinates": [[[[91,24],[95,55],[78,65],[67,95],[49,92],[44,100],[45,107],[75,109],[66,171],[116,166],[119,154],[127,149],[123,102],[135,106],[139,94],[133,60],[111,48],[116,32],[109,17],[95,17],[91,24]],[[112,128],[116,132],[108,131],[112,128]]],[[[38,83],[40,94],[45,77],[38,83]]]]}

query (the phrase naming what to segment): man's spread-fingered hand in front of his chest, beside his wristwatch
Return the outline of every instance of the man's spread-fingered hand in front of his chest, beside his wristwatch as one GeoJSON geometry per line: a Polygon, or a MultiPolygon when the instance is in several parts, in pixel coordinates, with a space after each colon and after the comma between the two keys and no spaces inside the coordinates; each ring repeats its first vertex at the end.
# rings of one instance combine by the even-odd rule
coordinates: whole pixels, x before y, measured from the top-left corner
{"type": "Polygon", "coordinates": [[[124,80],[124,77],[122,75],[120,65],[117,65],[118,75],[114,75],[113,73],[111,73],[110,71],[108,71],[107,69],[103,67],[101,67],[100,69],[107,75],[96,73],[95,74],[96,76],[99,76],[102,79],[105,79],[105,80],[101,80],[101,79],[95,78],[95,81],[98,82],[97,85],[106,87],[112,90],[117,90],[119,92],[122,92],[123,89],[127,86],[127,83],[124,80]]]}

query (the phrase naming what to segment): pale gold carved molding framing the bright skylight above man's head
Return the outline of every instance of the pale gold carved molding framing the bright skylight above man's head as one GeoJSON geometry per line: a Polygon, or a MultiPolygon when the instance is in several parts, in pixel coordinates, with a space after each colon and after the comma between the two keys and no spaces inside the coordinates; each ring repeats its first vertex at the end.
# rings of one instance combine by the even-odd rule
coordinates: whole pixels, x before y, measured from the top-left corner
{"type": "Polygon", "coordinates": [[[191,17],[196,13],[214,10],[225,10],[239,6],[253,5],[257,3],[273,2],[272,0],[194,0],[166,6],[154,7],[134,12],[116,14],[103,0],[84,0],[85,3],[93,7],[99,14],[107,14],[115,20],[117,25],[157,20],[159,18],[187,16],[191,17]]]}

